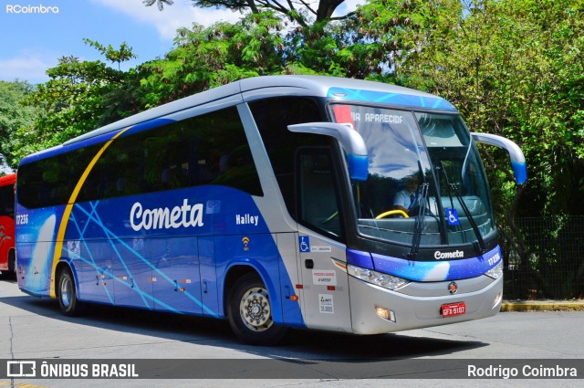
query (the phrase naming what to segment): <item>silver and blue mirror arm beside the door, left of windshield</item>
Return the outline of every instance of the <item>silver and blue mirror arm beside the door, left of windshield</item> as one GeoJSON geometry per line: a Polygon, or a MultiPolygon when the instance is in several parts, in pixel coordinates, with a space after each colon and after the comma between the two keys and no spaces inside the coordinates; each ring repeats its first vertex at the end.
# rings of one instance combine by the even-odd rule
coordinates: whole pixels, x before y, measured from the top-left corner
{"type": "Polygon", "coordinates": [[[347,153],[349,176],[357,181],[366,181],[369,158],[365,141],[358,131],[349,124],[335,122],[306,122],[288,125],[288,131],[301,133],[316,133],[337,139],[347,153]]]}

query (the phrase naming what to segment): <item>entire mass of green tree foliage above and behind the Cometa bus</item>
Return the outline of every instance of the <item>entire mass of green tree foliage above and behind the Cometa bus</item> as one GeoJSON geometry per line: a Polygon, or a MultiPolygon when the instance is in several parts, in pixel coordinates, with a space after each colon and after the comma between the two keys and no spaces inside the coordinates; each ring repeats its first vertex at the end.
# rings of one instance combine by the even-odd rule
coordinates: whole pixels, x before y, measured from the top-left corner
{"type": "MultiPolygon", "coordinates": [[[[338,20],[316,15],[320,5],[334,10],[339,1],[320,1],[304,13],[267,1],[200,3],[252,12],[235,24],[182,28],[167,55],[127,72],[62,58],[48,70],[51,80],[28,97],[39,117],[30,133],[22,130],[26,141],[20,151],[15,143],[15,152],[236,79],[374,79],[438,94],[472,131],[522,146],[530,180],[520,207],[513,207],[506,154],[483,149],[501,215],[584,214],[582,0],[370,0],[338,20]]],[[[125,43],[114,49],[85,42],[118,68],[134,58],[125,43]]]]}

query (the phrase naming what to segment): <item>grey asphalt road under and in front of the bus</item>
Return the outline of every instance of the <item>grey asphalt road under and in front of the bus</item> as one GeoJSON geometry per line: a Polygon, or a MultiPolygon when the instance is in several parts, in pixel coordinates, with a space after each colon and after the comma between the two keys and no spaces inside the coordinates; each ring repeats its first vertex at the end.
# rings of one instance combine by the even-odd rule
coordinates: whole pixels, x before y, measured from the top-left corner
{"type": "MultiPolygon", "coordinates": [[[[238,342],[227,324],[218,320],[105,306],[96,306],[84,317],[64,317],[56,300],[29,297],[19,291],[16,282],[4,279],[0,280],[0,359],[151,360],[152,371],[158,365],[164,378],[16,378],[0,379],[0,387],[372,387],[393,385],[395,379],[404,387],[430,383],[580,387],[584,385],[583,327],[584,312],[502,312],[486,320],[368,337],[295,330],[283,345],[252,347],[238,342]],[[194,365],[204,370],[200,375],[213,379],[170,378],[168,368],[176,366],[180,372],[185,360],[199,360],[194,365]],[[542,360],[558,365],[577,362],[582,375],[578,380],[561,381],[450,380],[459,378],[461,365],[465,369],[466,364],[484,361],[496,369],[511,362],[521,373],[522,365],[537,368],[542,360]],[[284,378],[278,374],[281,362],[287,365],[281,375],[284,378]],[[392,380],[381,379],[387,376],[392,380]]],[[[186,368],[193,365],[185,364],[186,368]]]]}

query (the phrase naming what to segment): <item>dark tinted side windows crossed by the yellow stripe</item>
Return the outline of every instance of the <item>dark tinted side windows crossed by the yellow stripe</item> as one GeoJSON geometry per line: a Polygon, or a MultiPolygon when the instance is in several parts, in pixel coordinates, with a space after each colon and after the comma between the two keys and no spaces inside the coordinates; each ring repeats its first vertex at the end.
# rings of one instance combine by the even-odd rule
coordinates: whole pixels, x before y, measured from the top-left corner
{"type": "MultiPolygon", "coordinates": [[[[235,108],[149,131],[130,131],[111,142],[99,157],[78,193],[78,202],[199,184],[221,184],[262,195],[235,108]]],[[[102,146],[21,167],[19,173],[24,175],[24,182],[20,182],[19,176],[20,203],[26,207],[66,204],[89,161],[102,146]],[[47,195],[52,191],[56,194],[47,195]]]]}

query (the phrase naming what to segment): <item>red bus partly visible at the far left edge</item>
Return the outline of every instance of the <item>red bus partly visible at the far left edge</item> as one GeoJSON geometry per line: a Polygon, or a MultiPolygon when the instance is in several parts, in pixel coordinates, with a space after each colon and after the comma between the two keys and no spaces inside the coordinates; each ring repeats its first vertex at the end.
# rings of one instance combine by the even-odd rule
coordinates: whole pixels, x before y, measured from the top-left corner
{"type": "Polygon", "coordinates": [[[16,173],[0,177],[0,271],[16,276],[15,252],[16,173]]]}

